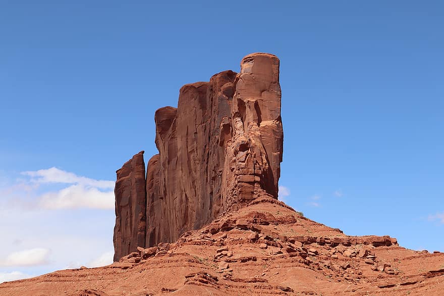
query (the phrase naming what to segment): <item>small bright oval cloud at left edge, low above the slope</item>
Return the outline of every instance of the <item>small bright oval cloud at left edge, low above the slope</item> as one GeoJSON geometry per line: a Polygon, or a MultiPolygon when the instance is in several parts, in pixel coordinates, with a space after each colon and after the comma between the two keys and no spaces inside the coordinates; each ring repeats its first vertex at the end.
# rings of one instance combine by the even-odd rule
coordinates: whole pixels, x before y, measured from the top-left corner
{"type": "Polygon", "coordinates": [[[4,261],[0,261],[0,266],[37,266],[48,263],[49,250],[35,248],[13,252],[4,261]]]}

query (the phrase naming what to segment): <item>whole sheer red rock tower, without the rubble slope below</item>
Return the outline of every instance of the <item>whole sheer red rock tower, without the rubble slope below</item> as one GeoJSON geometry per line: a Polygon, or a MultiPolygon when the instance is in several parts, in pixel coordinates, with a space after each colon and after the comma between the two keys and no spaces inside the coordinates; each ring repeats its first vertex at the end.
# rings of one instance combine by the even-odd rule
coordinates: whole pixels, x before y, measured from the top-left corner
{"type": "Polygon", "coordinates": [[[154,121],[159,154],[148,162],[146,182],[139,173],[138,182],[124,181],[141,172],[138,166],[126,163],[117,171],[115,260],[137,246],[175,241],[256,198],[278,198],[283,129],[277,57],[251,54],[241,73],[224,71],[209,82],[184,85],[178,107],[158,109],[154,121]],[[122,202],[133,196],[140,199],[134,210],[122,202]],[[141,222],[128,226],[142,217],[144,229],[141,222]]]}

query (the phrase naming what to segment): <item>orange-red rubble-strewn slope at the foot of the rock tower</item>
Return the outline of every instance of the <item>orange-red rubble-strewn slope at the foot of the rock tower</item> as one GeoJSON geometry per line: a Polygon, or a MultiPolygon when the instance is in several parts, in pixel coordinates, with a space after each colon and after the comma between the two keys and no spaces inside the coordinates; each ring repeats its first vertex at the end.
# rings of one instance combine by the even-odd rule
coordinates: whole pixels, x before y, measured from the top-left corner
{"type": "Polygon", "coordinates": [[[442,295],[444,253],[347,236],[271,198],[120,262],[0,284],[1,295],[442,295]]]}

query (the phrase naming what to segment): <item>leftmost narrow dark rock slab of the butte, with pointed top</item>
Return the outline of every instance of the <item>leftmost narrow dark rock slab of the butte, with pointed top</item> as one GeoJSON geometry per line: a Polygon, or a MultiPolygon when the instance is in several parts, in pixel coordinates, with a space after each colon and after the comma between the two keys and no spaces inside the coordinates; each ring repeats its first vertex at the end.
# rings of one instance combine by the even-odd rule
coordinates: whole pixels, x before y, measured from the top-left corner
{"type": "Polygon", "coordinates": [[[143,151],[126,162],[117,172],[116,226],[114,261],[145,244],[146,188],[143,151]]]}

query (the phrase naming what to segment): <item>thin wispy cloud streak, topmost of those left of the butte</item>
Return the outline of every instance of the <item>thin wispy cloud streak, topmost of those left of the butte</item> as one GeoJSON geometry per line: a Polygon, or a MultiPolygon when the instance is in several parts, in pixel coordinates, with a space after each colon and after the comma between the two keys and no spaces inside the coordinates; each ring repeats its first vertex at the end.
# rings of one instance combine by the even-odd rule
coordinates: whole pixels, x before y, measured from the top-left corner
{"type": "Polygon", "coordinates": [[[113,181],[90,179],[54,167],[38,171],[22,172],[22,174],[31,177],[31,182],[34,183],[66,183],[81,184],[101,189],[114,188],[113,181]]]}

